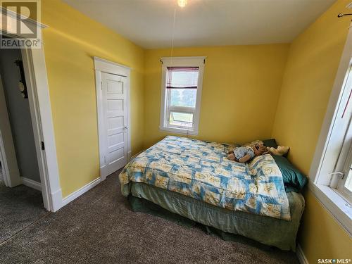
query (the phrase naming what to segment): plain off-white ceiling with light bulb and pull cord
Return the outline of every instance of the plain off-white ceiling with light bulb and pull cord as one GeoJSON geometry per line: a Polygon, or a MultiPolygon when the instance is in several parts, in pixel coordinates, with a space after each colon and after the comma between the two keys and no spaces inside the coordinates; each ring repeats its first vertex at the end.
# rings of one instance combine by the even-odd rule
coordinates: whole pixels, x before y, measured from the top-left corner
{"type": "Polygon", "coordinates": [[[291,42],[335,0],[64,0],[146,49],[291,42]],[[174,12],[175,30],[173,29],[174,12]]]}

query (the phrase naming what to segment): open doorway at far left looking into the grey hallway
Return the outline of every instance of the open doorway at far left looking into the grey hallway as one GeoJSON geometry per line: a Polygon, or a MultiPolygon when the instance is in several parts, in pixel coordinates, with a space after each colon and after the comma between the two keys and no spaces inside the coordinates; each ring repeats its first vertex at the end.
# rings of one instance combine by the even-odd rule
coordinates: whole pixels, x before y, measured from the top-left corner
{"type": "Polygon", "coordinates": [[[20,49],[0,49],[0,79],[1,244],[47,212],[20,49]]]}

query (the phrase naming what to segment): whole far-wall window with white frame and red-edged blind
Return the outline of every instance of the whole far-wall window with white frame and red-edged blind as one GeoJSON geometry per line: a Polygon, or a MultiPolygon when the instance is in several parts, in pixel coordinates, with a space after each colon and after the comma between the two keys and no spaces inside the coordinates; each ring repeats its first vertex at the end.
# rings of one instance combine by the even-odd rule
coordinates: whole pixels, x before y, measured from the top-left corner
{"type": "Polygon", "coordinates": [[[161,130],[198,134],[205,57],[162,58],[161,130]]]}

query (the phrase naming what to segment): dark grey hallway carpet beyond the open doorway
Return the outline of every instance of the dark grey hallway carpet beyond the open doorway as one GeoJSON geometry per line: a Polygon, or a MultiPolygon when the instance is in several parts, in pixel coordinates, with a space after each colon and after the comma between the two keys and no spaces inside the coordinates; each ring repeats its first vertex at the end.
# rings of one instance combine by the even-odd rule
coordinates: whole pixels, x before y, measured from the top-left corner
{"type": "Polygon", "coordinates": [[[0,244],[43,215],[46,210],[40,191],[24,185],[9,188],[0,179],[0,244]]]}

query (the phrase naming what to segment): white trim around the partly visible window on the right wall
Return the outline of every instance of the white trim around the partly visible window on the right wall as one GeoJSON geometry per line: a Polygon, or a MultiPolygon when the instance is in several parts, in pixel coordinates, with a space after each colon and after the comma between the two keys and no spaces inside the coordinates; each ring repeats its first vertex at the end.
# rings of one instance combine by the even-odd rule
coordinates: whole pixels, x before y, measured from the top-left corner
{"type": "MultiPolygon", "coordinates": [[[[310,191],[317,197],[322,205],[327,208],[329,213],[337,220],[339,225],[352,236],[352,208],[348,205],[348,202],[341,195],[339,195],[336,189],[329,187],[331,175],[331,164],[324,161],[328,161],[333,155],[332,151],[328,151],[329,146],[332,144],[339,144],[342,146],[341,135],[334,130],[337,126],[339,119],[337,116],[341,113],[338,111],[339,104],[346,103],[346,96],[344,96],[344,87],[346,84],[346,73],[352,65],[352,24],[348,30],[348,36],[344,51],[341,56],[337,75],[334,80],[334,86],[330,94],[329,103],[327,106],[327,112],[325,113],[325,119],[322,124],[322,130],[320,131],[320,137],[318,144],[315,149],[312,165],[310,166],[310,182],[308,187],[310,191]]],[[[346,91],[345,91],[346,92],[346,91]]],[[[345,93],[346,94],[346,93],[345,93]]],[[[335,161],[337,158],[333,158],[335,161]]]]}

